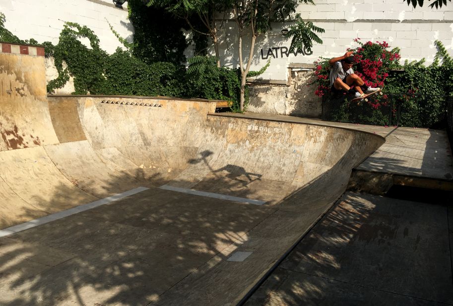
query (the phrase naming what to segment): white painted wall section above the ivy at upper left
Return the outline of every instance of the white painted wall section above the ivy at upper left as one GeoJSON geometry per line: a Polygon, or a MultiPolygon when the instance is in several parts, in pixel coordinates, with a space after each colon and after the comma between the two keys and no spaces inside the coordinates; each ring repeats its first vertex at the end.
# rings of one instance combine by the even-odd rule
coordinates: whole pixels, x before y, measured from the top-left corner
{"type": "Polygon", "coordinates": [[[39,43],[50,41],[55,45],[64,22],[69,21],[90,28],[108,53],[122,45],[107,20],[123,38],[129,42],[133,38],[127,2],[123,7],[114,7],[111,0],[0,0],[0,11],[6,16],[5,27],[22,40],[33,38],[39,43]]]}

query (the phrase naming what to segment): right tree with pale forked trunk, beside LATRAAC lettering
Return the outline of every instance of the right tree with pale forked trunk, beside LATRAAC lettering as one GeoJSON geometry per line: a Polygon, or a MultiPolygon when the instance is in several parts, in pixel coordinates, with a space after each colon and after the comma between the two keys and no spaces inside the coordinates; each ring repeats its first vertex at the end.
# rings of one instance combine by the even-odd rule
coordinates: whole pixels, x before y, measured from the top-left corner
{"type": "Polygon", "coordinates": [[[260,34],[270,29],[271,22],[294,21],[286,38],[292,38],[290,51],[311,51],[313,41],[323,41],[315,32],[324,33],[324,29],[316,27],[312,22],[304,22],[299,15],[293,16],[296,7],[301,3],[314,4],[313,0],[235,0],[233,1],[234,19],[238,26],[239,65],[241,70],[240,107],[244,110],[247,74],[250,71],[255,42],[260,34]],[[295,18],[292,18],[295,17],[295,18]],[[249,31],[249,33],[246,33],[249,31]],[[247,63],[243,57],[243,37],[250,37],[250,51],[247,63]]]}

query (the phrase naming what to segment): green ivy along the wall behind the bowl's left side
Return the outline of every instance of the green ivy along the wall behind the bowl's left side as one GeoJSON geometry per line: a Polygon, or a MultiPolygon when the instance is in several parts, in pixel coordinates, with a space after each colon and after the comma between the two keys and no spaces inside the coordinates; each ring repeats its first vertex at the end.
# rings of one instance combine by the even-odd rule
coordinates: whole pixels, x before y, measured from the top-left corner
{"type": "MultiPolygon", "coordinates": [[[[4,28],[2,17],[0,33],[3,40],[24,44],[4,28]]],[[[189,59],[191,65],[187,72],[183,65],[175,62],[148,63],[149,57],[142,59],[133,54],[139,49],[135,43],[129,44],[116,35],[126,50],[118,48],[109,55],[100,48],[99,38],[89,28],[65,23],[58,45],[48,42],[41,45],[46,48],[46,56],[55,58],[59,72],[57,79],[49,82],[48,92],[63,87],[69,76],[73,76],[73,94],[218,99],[230,101],[233,110],[238,110],[238,70],[217,68],[216,58],[210,56],[189,59]],[[89,48],[79,41],[83,38],[88,39],[89,48]]]]}

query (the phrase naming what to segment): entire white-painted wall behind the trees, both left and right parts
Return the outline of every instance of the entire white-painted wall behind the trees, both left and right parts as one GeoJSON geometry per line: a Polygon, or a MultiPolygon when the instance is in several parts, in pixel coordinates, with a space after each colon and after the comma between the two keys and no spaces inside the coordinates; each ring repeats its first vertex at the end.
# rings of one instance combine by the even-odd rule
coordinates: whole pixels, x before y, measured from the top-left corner
{"type": "MultiPolygon", "coordinates": [[[[71,21],[90,27],[99,36],[101,48],[112,53],[121,44],[113,35],[106,19],[129,41],[132,39],[133,29],[127,19],[127,10],[109,6],[111,0],[102,1],[107,5],[89,0],[0,0],[0,11],[6,15],[6,27],[21,39],[35,38],[39,42],[57,43],[64,21],[71,21]],[[23,22],[24,14],[26,22],[23,22]]],[[[316,3],[317,5],[301,4],[297,7],[297,12],[305,20],[318,20],[316,25],[325,30],[324,34],[320,34],[324,44],[315,45],[311,55],[291,54],[282,58],[278,51],[278,58],[271,59],[271,66],[263,78],[285,80],[289,63],[313,63],[320,56],[342,55],[347,48],[358,46],[353,42],[357,37],[363,43],[386,41],[390,47],[400,48],[402,61],[425,57],[429,63],[436,52],[436,39],[441,40],[453,55],[453,5],[448,3],[437,10],[429,8],[429,3],[425,3],[424,7],[413,8],[402,0],[317,0],[316,3]],[[424,22],[420,23],[420,20],[424,22]]],[[[238,64],[236,34],[234,30],[228,30],[234,29],[234,24],[234,21],[228,22],[226,27],[229,45],[220,46],[221,62],[229,67],[236,67],[238,64]]],[[[261,59],[261,49],[266,55],[268,48],[289,48],[290,41],[279,35],[280,29],[287,26],[289,24],[274,24],[273,31],[277,36],[259,38],[252,70],[258,70],[266,62],[266,59],[261,59]]],[[[223,29],[220,33],[224,33],[223,29]]]]}

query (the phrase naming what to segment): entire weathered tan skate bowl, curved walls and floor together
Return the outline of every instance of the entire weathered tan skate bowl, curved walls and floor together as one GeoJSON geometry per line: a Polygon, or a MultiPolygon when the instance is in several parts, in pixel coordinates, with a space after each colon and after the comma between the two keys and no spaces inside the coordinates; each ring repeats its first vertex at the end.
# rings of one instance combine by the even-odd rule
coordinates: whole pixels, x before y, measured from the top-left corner
{"type": "MultiPolygon", "coordinates": [[[[120,284],[127,282],[121,278],[119,287],[112,287],[107,285],[115,279],[112,274],[105,284],[94,284],[85,272],[63,275],[57,260],[45,268],[46,277],[39,269],[27,275],[10,271],[17,279],[40,275],[38,284],[22,283],[25,304],[128,304],[131,296],[155,305],[235,303],[341,196],[351,169],[384,143],[380,136],[342,128],[215,116],[211,101],[46,98],[43,56],[0,56],[0,228],[139,186],[150,188],[106,208],[11,235],[0,241],[0,253],[9,258],[4,250],[12,249],[1,246],[11,240],[14,246],[21,241],[58,246],[72,254],[65,256],[76,256],[70,271],[89,267],[109,274],[104,267],[127,260],[135,250],[133,256],[142,257],[134,260],[143,264],[134,261],[136,275],[148,269],[166,280],[140,289],[120,284]],[[165,190],[158,189],[162,186],[165,190]],[[122,230],[112,229],[117,226],[122,230]],[[104,240],[123,230],[118,240],[104,240]],[[160,238],[143,240],[143,233],[160,238]],[[174,244],[186,251],[162,253],[174,250],[174,244]],[[97,251],[87,255],[86,250],[97,251]],[[157,251],[146,253],[152,250],[157,251]],[[233,256],[240,251],[253,255],[233,256]],[[161,260],[161,270],[151,269],[149,260],[161,260]],[[46,279],[58,277],[63,287],[56,292],[46,279]],[[76,298],[64,287],[75,279],[86,280],[76,298]],[[114,288],[129,288],[129,296],[114,288]]],[[[52,253],[46,248],[36,250],[52,253]]],[[[9,288],[7,281],[0,287],[9,288]]],[[[0,302],[18,303],[4,297],[0,302]]]]}

